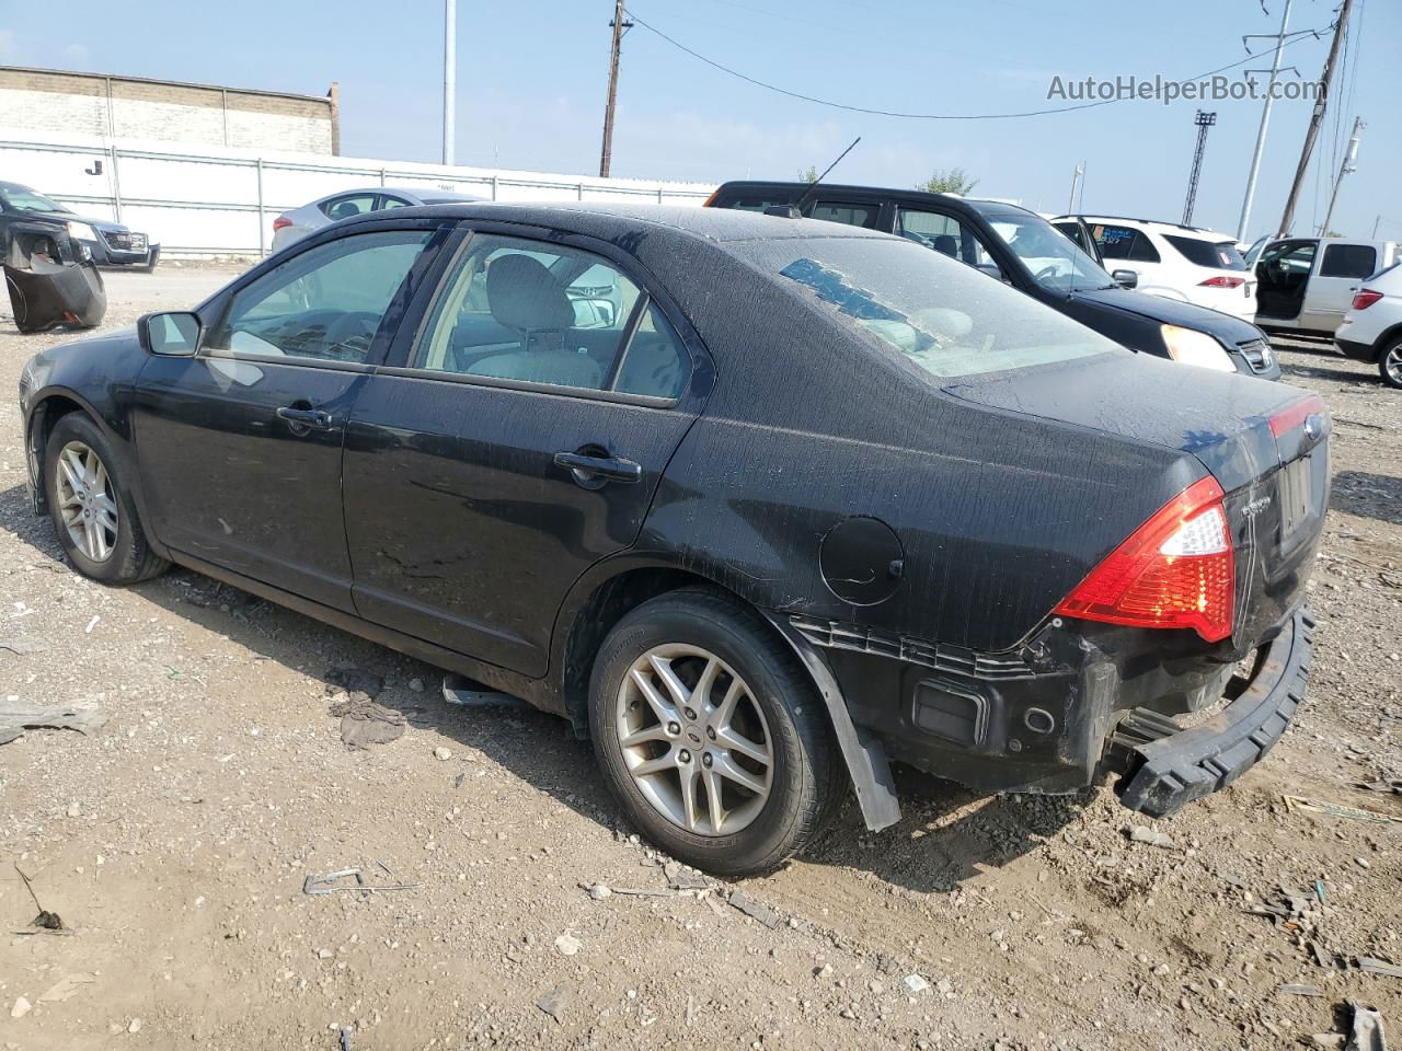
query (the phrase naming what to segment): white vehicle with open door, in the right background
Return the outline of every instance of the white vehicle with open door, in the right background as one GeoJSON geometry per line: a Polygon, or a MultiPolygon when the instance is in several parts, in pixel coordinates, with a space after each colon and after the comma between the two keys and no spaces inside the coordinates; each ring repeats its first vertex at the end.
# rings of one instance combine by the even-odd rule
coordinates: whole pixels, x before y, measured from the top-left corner
{"type": "Polygon", "coordinates": [[[1269,329],[1332,336],[1364,277],[1398,261],[1394,241],[1286,237],[1252,247],[1256,320],[1269,329]]]}

